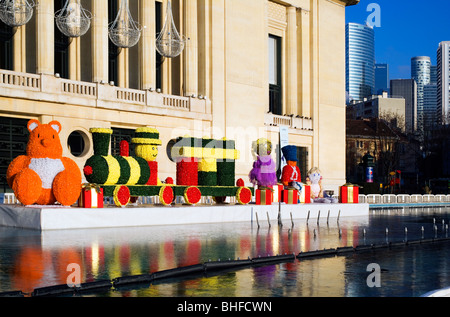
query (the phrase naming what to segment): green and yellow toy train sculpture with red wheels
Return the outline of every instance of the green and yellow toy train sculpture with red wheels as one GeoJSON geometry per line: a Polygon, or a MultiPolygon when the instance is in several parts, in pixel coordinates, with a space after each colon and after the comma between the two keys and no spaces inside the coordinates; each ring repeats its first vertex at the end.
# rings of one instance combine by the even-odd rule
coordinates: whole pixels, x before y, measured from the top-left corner
{"type": "Polygon", "coordinates": [[[122,141],[120,155],[109,155],[111,129],[93,128],[94,155],[83,168],[86,180],[103,189],[105,197],[113,197],[116,206],[125,207],[133,198],[159,196],[168,206],[176,197],[195,205],[202,196],[223,203],[226,197],[236,197],[237,203],[248,204],[254,194],[240,179],[235,183],[235,162],[239,151],[231,140],[180,137],[170,149],[176,163],[176,184],[171,178],[158,179],[158,147],[162,145],[159,132],[153,128],[136,129],[135,156],[130,156],[129,143],[122,141]]]}

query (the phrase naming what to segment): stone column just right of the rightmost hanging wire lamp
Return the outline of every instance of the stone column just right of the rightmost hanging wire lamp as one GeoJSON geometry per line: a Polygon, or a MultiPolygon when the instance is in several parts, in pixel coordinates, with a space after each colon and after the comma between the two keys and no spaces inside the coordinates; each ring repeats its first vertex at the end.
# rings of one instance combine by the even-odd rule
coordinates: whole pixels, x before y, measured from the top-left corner
{"type": "Polygon", "coordinates": [[[198,93],[197,0],[184,1],[184,31],[188,38],[184,58],[184,94],[198,93]]]}

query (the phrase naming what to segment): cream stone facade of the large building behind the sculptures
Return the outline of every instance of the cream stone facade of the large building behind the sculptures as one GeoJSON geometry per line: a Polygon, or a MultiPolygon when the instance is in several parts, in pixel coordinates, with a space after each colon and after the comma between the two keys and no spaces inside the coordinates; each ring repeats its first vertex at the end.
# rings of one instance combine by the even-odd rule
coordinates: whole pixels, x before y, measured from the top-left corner
{"type": "Polygon", "coordinates": [[[111,152],[137,127],[157,128],[161,180],[176,173],[166,145],[192,135],[236,140],[236,176],[248,181],[252,142],[278,145],[284,127],[302,174],[317,166],[327,189],[345,183],[345,8],[359,0],[173,0],[188,39],[173,59],[155,51],[168,1],[129,1],[143,29],[120,49],[108,39],[116,1],[82,0],[91,26],[71,39],[54,22],[63,2],[40,0],[26,25],[0,27],[11,35],[0,51],[1,175],[38,119],[61,122],[64,155],[80,169],[93,154],[90,128],[113,129],[111,152]]]}

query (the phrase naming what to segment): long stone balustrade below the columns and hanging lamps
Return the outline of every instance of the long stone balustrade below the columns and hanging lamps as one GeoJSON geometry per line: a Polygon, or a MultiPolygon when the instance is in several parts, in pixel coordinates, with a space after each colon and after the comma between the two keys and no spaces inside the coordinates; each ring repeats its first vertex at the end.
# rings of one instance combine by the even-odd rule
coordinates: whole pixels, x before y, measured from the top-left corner
{"type": "Polygon", "coordinates": [[[0,96],[211,120],[211,101],[45,74],[0,70],[0,96]]]}

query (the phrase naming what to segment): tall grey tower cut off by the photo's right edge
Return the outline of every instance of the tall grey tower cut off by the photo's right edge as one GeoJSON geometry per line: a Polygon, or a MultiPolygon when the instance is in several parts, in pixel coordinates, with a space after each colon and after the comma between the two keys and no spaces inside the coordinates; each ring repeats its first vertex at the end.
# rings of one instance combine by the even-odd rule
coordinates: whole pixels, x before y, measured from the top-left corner
{"type": "Polygon", "coordinates": [[[439,43],[437,50],[437,119],[450,123],[450,41],[439,43]]]}

